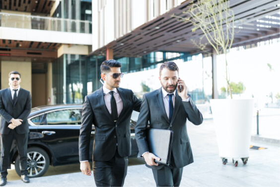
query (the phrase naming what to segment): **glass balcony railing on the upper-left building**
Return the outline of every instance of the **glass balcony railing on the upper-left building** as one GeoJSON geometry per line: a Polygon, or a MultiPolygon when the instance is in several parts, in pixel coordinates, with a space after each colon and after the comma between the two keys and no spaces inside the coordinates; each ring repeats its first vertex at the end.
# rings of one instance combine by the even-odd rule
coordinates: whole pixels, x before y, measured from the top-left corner
{"type": "Polygon", "coordinates": [[[92,33],[91,24],[91,21],[0,12],[2,27],[92,33]]]}

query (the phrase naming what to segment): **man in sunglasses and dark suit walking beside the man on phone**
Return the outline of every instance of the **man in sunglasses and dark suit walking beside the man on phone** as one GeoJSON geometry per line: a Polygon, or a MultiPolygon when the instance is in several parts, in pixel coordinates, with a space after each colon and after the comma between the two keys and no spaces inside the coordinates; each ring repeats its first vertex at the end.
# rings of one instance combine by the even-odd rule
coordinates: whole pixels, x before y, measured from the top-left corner
{"type": "Polygon", "coordinates": [[[103,87],[85,96],[79,136],[80,169],[90,176],[89,144],[92,124],[93,175],[97,187],[121,187],[127,175],[131,154],[130,118],[140,111],[141,101],[131,90],[121,89],[120,62],[104,61],[100,67],[103,87]]]}

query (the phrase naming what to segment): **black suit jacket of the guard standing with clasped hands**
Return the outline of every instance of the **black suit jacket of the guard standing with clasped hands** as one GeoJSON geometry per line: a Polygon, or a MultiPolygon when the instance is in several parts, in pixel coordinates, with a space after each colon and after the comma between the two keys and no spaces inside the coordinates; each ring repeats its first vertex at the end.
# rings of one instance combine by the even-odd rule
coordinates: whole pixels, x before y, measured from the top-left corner
{"type": "Polygon", "coordinates": [[[12,101],[10,88],[0,90],[0,134],[9,134],[11,129],[8,128],[9,121],[22,119],[21,125],[14,128],[18,134],[29,132],[27,117],[31,111],[30,92],[22,88],[19,89],[15,103],[12,101]]]}

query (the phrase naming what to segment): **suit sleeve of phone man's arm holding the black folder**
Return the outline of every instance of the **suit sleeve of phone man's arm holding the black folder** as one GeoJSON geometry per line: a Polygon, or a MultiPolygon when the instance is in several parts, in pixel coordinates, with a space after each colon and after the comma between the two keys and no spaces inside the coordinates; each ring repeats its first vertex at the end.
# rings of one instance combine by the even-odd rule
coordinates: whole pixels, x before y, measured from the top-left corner
{"type": "Polygon", "coordinates": [[[148,144],[146,141],[146,128],[150,119],[149,104],[145,95],[143,95],[143,101],[140,108],[140,114],[138,116],[137,124],[135,127],[135,138],[139,148],[140,155],[148,152],[148,144]]]}

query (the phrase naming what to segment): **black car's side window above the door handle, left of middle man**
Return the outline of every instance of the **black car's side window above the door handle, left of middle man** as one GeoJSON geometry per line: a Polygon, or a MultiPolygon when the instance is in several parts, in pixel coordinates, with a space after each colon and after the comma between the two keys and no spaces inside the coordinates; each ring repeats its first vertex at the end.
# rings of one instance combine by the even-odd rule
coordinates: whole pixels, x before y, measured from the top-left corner
{"type": "Polygon", "coordinates": [[[81,124],[81,114],[79,109],[64,109],[47,113],[46,123],[48,125],[59,124],[81,124]]]}

